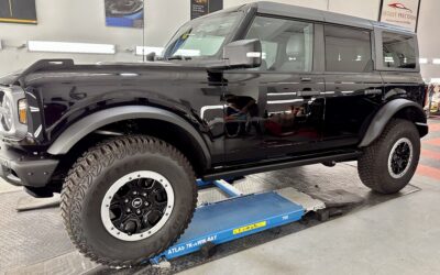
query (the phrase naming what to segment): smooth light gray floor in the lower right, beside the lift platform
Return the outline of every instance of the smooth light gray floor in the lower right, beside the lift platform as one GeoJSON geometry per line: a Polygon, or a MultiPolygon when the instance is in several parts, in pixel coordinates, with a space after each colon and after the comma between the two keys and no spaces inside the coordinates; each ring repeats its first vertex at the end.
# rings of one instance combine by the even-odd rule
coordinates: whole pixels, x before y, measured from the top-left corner
{"type": "Polygon", "coordinates": [[[440,182],[182,274],[440,274],[440,182]]]}

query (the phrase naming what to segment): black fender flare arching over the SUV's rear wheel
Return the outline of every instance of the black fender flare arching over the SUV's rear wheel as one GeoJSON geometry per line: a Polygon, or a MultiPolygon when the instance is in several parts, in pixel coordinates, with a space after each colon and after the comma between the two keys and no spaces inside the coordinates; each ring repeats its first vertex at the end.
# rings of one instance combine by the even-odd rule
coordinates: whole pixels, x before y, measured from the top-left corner
{"type": "Polygon", "coordinates": [[[418,119],[416,119],[414,122],[419,130],[420,136],[425,136],[428,133],[428,124],[424,109],[420,107],[420,105],[414,101],[399,98],[387,102],[376,112],[359,146],[365,147],[373,143],[382,134],[388,121],[397,112],[406,108],[413,108],[416,110],[418,119]]]}

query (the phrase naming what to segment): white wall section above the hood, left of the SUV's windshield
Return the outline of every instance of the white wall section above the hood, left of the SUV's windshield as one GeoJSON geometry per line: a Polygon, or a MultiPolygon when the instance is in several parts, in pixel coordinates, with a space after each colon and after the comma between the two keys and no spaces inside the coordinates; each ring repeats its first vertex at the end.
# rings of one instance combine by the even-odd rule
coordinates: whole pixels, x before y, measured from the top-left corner
{"type": "MultiPolygon", "coordinates": [[[[189,20],[189,0],[145,1],[145,44],[164,45],[189,20]]],[[[106,26],[103,0],[36,0],[37,25],[0,23],[0,76],[41,58],[74,58],[77,63],[140,61],[127,52],[142,45],[142,30],[106,26]],[[29,40],[116,44],[116,55],[29,53],[16,47],[29,40]]]]}

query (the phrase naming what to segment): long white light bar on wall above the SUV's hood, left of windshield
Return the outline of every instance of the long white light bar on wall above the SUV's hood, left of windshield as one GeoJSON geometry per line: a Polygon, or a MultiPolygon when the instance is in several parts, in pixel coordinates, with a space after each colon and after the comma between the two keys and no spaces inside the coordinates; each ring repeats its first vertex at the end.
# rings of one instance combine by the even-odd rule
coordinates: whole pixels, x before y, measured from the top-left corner
{"type": "Polygon", "coordinates": [[[28,41],[30,52],[76,53],[76,54],[116,54],[116,46],[111,44],[28,41]]]}

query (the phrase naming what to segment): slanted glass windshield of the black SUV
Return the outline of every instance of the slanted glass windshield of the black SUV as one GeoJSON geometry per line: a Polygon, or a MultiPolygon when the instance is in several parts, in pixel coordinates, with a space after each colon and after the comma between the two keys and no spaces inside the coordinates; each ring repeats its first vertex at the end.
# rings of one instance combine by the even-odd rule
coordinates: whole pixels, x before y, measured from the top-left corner
{"type": "Polygon", "coordinates": [[[240,19],[239,12],[223,12],[183,25],[165,46],[164,57],[215,56],[231,35],[240,19]]]}

